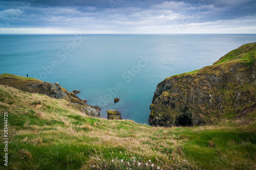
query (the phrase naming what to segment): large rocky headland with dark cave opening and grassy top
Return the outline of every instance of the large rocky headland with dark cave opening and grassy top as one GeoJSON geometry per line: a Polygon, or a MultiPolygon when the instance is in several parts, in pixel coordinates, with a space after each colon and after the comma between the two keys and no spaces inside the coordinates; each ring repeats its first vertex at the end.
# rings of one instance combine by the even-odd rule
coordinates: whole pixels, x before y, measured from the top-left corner
{"type": "Polygon", "coordinates": [[[166,78],[157,85],[152,126],[214,124],[255,115],[256,43],[245,44],[211,66],[166,78]]]}

